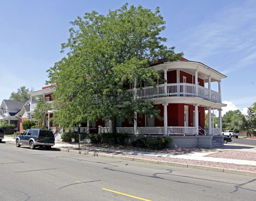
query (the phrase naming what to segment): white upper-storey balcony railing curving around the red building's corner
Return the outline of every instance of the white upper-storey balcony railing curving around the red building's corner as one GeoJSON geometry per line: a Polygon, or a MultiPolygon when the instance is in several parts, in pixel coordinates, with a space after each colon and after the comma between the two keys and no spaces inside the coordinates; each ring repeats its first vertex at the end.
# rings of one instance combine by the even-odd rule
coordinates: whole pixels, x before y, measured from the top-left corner
{"type": "MultiPolygon", "coordinates": [[[[198,93],[196,93],[196,85],[189,83],[173,83],[165,85],[157,85],[156,87],[148,86],[136,89],[137,99],[158,98],[165,96],[185,96],[185,97],[200,97],[207,100],[221,102],[221,94],[205,87],[197,86],[198,93]]],[[[127,90],[130,96],[134,96],[134,89],[127,90]]]]}

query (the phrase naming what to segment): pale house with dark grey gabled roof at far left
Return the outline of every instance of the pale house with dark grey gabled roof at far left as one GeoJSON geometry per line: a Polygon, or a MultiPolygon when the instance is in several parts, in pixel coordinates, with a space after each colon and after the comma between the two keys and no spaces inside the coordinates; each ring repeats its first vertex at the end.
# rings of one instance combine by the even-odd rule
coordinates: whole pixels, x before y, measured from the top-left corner
{"type": "Polygon", "coordinates": [[[9,125],[15,125],[14,129],[19,131],[20,119],[17,114],[25,103],[24,101],[3,100],[0,106],[0,119],[7,120],[9,125]]]}

